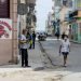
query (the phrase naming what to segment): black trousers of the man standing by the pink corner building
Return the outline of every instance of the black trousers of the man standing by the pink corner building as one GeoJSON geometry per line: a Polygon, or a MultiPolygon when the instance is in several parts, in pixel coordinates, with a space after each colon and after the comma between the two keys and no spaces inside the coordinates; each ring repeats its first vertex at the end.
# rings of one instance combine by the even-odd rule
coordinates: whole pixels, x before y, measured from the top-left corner
{"type": "Polygon", "coordinates": [[[28,52],[27,49],[22,49],[22,66],[28,66],[28,52]]]}

